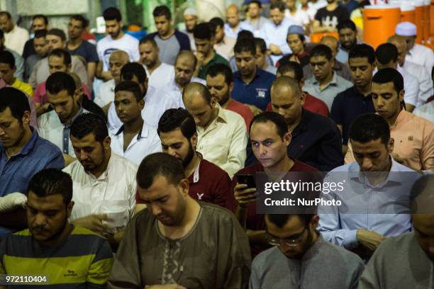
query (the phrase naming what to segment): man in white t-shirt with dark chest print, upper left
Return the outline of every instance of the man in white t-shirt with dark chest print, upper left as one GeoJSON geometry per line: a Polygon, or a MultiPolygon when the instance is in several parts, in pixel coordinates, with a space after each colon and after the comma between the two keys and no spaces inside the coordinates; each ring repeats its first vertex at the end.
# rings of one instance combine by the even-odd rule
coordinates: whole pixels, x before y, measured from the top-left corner
{"type": "Polygon", "coordinates": [[[96,77],[107,81],[114,78],[109,72],[109,60],[112,52],[123,50],[128,54],[130,61],[138,61],[140,55],[138,40],[122,31],[122,16],[118,8],[106,8],[103,16],[104,21],[106,21],[107,35],[96,44],[96,51],[99,57],[99,63],[96,67],[96,77]]]}

